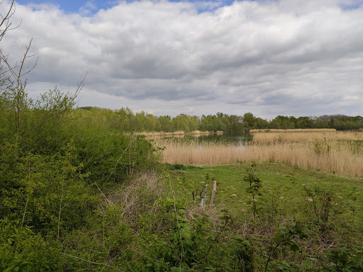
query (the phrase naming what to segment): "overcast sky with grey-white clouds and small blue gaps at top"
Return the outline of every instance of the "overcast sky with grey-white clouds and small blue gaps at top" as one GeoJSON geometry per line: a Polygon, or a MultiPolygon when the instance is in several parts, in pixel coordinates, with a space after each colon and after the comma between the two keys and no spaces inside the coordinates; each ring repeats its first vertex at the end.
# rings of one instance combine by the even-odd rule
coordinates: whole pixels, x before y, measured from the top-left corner
{"type": "Polygon", "coordinates": [[[0,46],[15,63],[33,38],[32,97],[86,74],[79,106],[363,115],[363,0],[19,0],[20,20],[0,46]]]}

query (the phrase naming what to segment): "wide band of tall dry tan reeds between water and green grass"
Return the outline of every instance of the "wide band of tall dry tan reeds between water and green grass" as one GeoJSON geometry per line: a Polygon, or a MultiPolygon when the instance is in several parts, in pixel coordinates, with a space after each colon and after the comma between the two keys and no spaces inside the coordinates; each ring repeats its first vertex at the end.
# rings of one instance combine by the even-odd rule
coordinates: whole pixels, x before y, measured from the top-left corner
{"type": "MultiPolygon", "coordinates": [[[[180,140],[160,144],[166,147],[164,162],[169,164],[214,165],[257,160],[281,162],[343,176],[363,176],[362,142],[352,141],[363,139],[363,133],[357,133],[342,132],[335,133],[335,136],[303,133],[306,137],[300,141],[296,140],[296,135],[291,135],[289,141],[255,140],[254,135],[254,141],[245,146],[223,142],[201,145],[196,141],[180,140]]],[[[264,133],[264,136],[271,134],[264,133]]]]}

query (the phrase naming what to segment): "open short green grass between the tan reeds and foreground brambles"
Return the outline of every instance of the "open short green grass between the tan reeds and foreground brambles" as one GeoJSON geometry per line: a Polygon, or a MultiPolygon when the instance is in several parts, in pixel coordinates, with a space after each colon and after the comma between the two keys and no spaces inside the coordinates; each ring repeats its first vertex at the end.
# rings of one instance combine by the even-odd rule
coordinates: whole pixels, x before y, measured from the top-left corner
{"type": "MultiPolygon", "coordinates": [[[[246,169],[249,163],[202,166],[185,166],[183,170],[173,171],[175,185],[183,184],[185,193],[191,194],[203,188],[204,183],[211,186],[212,179],[217,181],[215,204],[240,212],[245,210],[250,213],[250,205],[247,204],[250,195],[246,193],[247,183],[243,178],[247,175],[246,169]],[[209,176],[206,182],[206,175],[209,176]]],[[[356,224],[362,227],[363,223],[363,179],[348,178],[345,176],[333,176],[308,169],[301,169],[287,164],[259,163],[257,174],[262,180],[262,193],[265,197],[279,198],[284,204],[286,212],[291,218],[296,217],[294,210],[306,205],[309,198],[308,190],[320,188],[321,191],[334,195],[334,203],[340,203],[347,207],[347,203],[357,206],[354,216],[356,224]],[[352,200],[352,198],[356,200],[352,200]],[[292,210],[291,210],[292,209],[292,210]]],[[[335,204],[334,204],[335,205],[335,204]]],[[[352,211],[345,212],[345,222],[352,220],[352,211]]]]}

